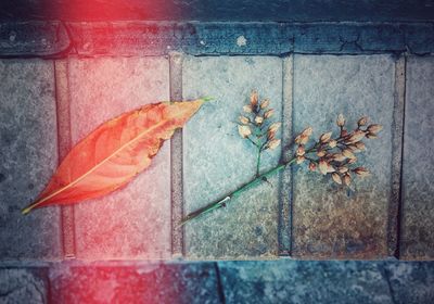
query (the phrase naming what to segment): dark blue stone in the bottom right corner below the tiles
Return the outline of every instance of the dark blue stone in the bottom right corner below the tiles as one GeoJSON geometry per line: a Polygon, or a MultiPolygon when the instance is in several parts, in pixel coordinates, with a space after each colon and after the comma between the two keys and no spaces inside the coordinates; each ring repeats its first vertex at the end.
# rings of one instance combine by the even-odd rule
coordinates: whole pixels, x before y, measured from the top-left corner
{"type": "Polygon", "coordinates": [[[434,263],[384,263],[394,303],[431,304],[434,302],[434,263]]]}

